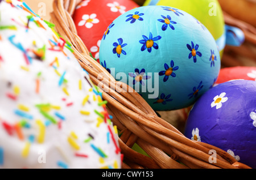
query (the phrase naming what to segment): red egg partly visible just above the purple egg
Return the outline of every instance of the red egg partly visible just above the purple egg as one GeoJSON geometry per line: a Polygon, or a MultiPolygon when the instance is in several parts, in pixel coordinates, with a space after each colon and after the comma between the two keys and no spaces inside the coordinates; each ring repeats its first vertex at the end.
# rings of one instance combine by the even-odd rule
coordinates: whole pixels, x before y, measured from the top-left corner
{"type": "Polygon", "coordinates": [[[256,81],[256,67],[236,66],[221,68],[216,84],[228,82],[234,79],[246,79],[256,81]]]}

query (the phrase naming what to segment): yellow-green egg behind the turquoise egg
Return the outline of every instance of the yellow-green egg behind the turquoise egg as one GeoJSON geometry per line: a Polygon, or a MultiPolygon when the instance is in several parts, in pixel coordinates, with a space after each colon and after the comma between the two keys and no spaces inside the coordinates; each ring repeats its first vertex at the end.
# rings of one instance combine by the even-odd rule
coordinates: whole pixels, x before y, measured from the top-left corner
{"type": "MultiPolygon", "coordinates": [[[[147,0],[143,6],[147,5],[171,6],[194,16],[197,23],[212,33],[222,56],[226,43],[225,23],[217,0],[147,0]]],[[[174,12],[175,8],[172,8],[174,12]]]]}

